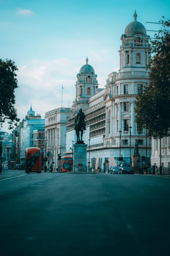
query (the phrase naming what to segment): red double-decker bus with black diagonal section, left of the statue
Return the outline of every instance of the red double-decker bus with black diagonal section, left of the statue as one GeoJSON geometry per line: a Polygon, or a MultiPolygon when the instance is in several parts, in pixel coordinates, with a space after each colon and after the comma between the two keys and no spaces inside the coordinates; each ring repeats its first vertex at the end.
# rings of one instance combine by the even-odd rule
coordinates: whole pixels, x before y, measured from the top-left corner
{"type": "Polygon", "coordinates": [[[28,147],[25,152],[25,173],[41,173],[41,151],[39,147],[28,147]]]}

